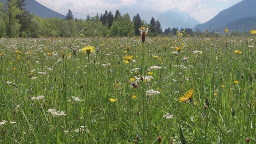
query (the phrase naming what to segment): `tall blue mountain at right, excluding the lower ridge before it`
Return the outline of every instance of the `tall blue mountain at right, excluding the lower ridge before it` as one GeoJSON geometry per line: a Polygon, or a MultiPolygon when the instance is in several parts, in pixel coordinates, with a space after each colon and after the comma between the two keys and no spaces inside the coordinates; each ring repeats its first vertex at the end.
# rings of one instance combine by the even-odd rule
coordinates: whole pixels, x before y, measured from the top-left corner
{"type": "MultiPolygon", "coordinates": [[[[228,23],[240,18],[256,16],[255,6],[256,0],[243,0],[238,2],[234,6],[231,6],[226,10],[222,10],[208,22],[196,25],[193,28],[193,31],[200,29],[204,32],[204,30],[208,29],[209,31],[214,30],[215,32],[219,31],[220,33],[224,33],[225,28],[229,29],[228,27],[225,27],[228,23]]],[[[234,30],[236,29],[234,28],[233,31],[234,30]]]]}

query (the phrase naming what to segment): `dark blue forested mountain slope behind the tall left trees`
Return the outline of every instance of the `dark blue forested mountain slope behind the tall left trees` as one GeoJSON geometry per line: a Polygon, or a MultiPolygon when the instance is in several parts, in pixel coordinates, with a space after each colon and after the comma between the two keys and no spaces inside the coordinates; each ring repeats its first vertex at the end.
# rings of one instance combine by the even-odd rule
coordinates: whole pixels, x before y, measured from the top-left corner
{"type": "MultiPolygon", "coordinates": [[[[6,0],[0,0],[0,2],[4,3],[6,2],[6,0]]],[[[26,10],[28,10],[30,13],[34,13],[35,15],[40,16],[41,18],[66,18],[66,16],[59,14],[58,12],[55,12],[49,8],[46,8],[42,4],[36,2],[36,0],[25,0],[24,4],[26,4],[26,10]]]]}

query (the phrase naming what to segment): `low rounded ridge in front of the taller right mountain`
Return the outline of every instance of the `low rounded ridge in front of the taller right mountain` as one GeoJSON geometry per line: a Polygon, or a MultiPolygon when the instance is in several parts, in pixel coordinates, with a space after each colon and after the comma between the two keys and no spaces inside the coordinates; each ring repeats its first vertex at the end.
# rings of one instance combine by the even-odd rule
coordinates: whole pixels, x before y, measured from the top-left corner
{"type": "Polygon", "coordinates": [[[244,32],[244,31],[250,31],[251,29],[256,28],[256,16],[250,16],[250,17],[246,17],[246,18],[240,18],[237,20],[234,20],[228,24],[226,24],[226,26],[224,26],[225,28],[228,28],[229,31],[238,31],[238,32],[244,32]]]}

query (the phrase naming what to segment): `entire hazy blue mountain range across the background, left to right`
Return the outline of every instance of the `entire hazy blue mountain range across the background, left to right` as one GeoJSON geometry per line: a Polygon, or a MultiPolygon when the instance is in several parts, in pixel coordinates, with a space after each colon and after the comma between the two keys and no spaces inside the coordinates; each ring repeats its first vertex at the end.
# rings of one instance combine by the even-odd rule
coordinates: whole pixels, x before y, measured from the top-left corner
{"type": "MultiPolygon", "coordinates": [[[[0,0],[4,2],[6,0],[0,0]]],[[[50,10],[49,8],[43,6],[42,4],[36,2],[36,0],[25,0],[26,10],[30,13],[34,13],[41,18],[52,18],[58,17],[61,19],[66,18],[66,16],[50,10]]],[[[137,13],[140,14],[142,20],[146,20],[147,23],[150,22],[151,18],[158,20],[162,26],[162,30],[165,28],[193,28],[193,31],[204,32],[208,29],[209,32],[214,30],[215,32],[224,33],[224,29],[227,28],[229,32],[232,31],[248,31],[256,28],[256,0],[243,0],[238,2],[234,6],[226,10],[222,10],[218,15],[214,16],[208,22],[200,24],[198,20],[192,18],[187,12],[180,12],[179,10],[165,10],[163,12],[156,12],[152,10],[143,11],[140,8],[135,8],[138,11],[131,11],[128,6],[125,9],[120,9],[120,13],[130,15],[132,19],[137,13]]],[[[107,10],[107,8],[106,8],[107,10]]],[[[109,12],[109,10],[107,10],[109,12]]],[[[68,10],[67,10],[68,12],[68,10]]],[[[86,19],[87,14],[82,14],[79,12],[73,12],[74,17],[86,19]]],[[[90,13],[89,16],[95,16],[97,13],[90,13]]],[[[112,11],[115,14],[115,11],[112,11]]],[[[100,14],[99,14],[100,15],[100,14]]]]}

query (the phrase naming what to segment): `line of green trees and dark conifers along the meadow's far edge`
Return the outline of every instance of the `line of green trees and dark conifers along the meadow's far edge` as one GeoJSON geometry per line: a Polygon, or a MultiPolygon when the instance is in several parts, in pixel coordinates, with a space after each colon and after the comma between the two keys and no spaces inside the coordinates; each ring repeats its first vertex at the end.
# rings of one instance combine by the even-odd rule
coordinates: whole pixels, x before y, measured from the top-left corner
{"type": "Polygon", "coordinates": [[[96,16],[87,15],[86,19],[74,18],[72,11],[68,10],[66,19],[40,18],[30,14],[24,4],[25,0],[6,0],[0,2],[0,37],[70,37],[74,36],[76,30],[87,27],[86,36],[140,36],[139,28],[146,26],[148,36],[172,36],[176,31],[192,34],[191,28],[167,28],[162,30],[161,24],[153,17],[148,24],[141,20],[137,13],[131,20],[130,15],[121,15],[119,10],[115,14],[105,11],[104,14],[96,16]]]}

